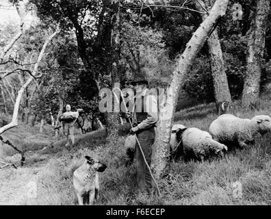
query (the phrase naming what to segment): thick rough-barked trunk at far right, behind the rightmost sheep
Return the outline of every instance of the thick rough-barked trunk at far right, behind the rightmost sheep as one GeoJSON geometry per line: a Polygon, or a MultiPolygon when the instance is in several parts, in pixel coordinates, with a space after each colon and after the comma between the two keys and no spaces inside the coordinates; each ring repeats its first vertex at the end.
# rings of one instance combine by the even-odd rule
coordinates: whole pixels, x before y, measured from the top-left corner
{"type": "Polygon", "coordinates": [[[266,26],[270,0],[258,0],[255,18],[248,31],[247,70],[244,79],[242,106],[246,109],[255,107],[259,101],[261,82],[261,60],[266,43],[266,26]]]}

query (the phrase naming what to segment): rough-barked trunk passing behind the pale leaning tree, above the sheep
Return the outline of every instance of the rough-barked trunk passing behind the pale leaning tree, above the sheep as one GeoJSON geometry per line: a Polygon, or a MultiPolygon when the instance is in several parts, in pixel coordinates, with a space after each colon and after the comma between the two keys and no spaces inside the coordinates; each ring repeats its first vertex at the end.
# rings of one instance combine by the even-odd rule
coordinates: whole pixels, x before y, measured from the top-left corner
{"type": "MultiPolygon", "coordinates": [[[[207,5],[208,10],[211,8],[211,4],[214,4],[214,0],[196,1],[196,8],[201,12],[205,12],[203,8],[207,5]],[[206,4],[205,4],[206,3],[206,4]]],[[[207,18],[207,14],[201,14],[203,20],[207,18]]],[[[224,67],[224,60],[222,55],[222,49],[220,40],[218,38],[218,31],[214,29],[213,33],[207,38],[207,44],[209,47],[209,56],[211,62],[211,75],[213,77],[214,96],[216,103],[228,101],[231,103],[231,93],[229,91],[229,83],[224,67]]]]}

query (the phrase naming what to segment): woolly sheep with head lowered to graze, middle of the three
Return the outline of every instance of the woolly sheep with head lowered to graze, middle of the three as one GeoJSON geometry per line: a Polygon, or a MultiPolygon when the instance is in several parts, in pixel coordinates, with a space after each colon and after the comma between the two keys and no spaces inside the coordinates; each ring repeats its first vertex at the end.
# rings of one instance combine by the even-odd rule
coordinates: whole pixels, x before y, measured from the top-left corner
{"type": "Polygon", "coordinates": [[[211,138],[207,131],[197,128],[188,128],[183,132],[183,149],[185,157],[194,157],[200,161],[212,155],[224,155],[227,146],[220,144],[211,138]]]}

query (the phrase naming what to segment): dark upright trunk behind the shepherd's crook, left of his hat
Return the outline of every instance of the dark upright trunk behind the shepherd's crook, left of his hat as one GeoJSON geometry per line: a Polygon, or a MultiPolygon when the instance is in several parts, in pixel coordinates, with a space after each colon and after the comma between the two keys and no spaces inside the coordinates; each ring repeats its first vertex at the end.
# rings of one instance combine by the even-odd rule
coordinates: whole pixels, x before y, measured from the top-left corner
{"type": "MultiPolygon", "coordinates": [[[[116,83],[120,83],[120,3],[118,0],[111,0],[111,21],[112,21],[112,33],[111,33],[111,78],[112,78],[112,89],[116,83]]],[[[113,112],[106,114],[106,133],[107,136],[118,136],[119,114],[116,112],[117,102],[112,95],[112,110],[113,112]]]]}

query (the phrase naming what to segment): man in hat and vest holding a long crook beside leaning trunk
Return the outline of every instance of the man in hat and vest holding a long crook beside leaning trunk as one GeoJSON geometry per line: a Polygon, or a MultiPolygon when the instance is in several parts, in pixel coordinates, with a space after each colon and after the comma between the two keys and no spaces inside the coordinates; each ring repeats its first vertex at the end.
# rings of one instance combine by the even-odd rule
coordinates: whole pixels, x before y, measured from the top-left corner
{"type": "MultiPolygon", "coordinates": [[[[155,141],[155,126],[158,118],[157,99],[147,88],[148,81],[144,77],[137,77],[131,85],[135,88],[135,102],[132,113],[125,114],[131,118],[133,127],[131,134],[136,134],[146,162],[151,166],[152,146],[155,141]]],[[[147,168],[138,143],[135,144],[136,179],[141,192],[151,194],[151,173],[147,168]]],[[[131,158],[132,159],[132,158],[131,158]]]]}

